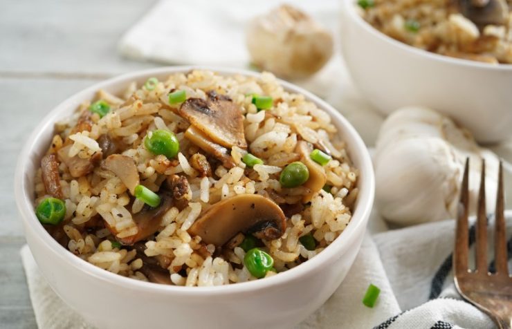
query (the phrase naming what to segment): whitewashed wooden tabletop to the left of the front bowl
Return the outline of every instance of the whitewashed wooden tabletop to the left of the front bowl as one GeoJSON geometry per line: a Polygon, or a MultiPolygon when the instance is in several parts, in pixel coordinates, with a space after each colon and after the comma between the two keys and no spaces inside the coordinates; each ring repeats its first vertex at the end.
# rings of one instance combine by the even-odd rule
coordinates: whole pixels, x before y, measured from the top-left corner
{"type": "Polygon", "coordinates": [[[0,0],[0,328],[36,328],[12,194],[17,155],[47,111],[94,82],[148,68],[116,43],[154,1],[0,0]]]}

